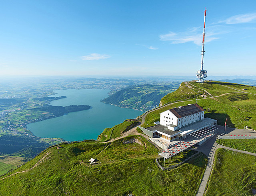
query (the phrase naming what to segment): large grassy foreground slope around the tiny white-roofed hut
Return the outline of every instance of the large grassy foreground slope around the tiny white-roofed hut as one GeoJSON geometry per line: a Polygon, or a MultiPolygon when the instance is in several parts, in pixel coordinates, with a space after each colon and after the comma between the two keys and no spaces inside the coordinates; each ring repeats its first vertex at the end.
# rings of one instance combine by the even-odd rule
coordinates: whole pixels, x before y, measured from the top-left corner
{"type": "Polygon", "coordinates": [[[191,196],[196,195],[206,167],[206,158],[198,155],[163,172],[155,163],[156,147],[138,135],[112,143],[86,141],[59,147],[48,148],[9,177],[0,177],[0,195],[191,196]],[[92,157],[97,159],[95,165],[88,161],[92,157]]]}

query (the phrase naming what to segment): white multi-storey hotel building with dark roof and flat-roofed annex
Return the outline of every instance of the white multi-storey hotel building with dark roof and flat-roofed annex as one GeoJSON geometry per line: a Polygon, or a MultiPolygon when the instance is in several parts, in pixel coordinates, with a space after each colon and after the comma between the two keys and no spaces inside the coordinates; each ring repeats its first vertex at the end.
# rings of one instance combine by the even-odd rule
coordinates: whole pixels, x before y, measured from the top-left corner
{"type": "Polygon", "coordinates": [[[160,114],[160,123],[140,129],[151,138],[163,141],[184,140],[189,137],[202,139],[204,135],[216,132],[217,120],[204,118],[204,109],[198,104],[188,104],[166,110],[160,114]]]}

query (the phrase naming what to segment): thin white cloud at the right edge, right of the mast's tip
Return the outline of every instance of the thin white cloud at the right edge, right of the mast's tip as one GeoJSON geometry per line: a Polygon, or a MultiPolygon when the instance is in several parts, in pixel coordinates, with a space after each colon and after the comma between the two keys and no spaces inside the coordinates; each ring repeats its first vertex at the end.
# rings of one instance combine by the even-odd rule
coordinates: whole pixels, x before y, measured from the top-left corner
{"type": "Polygon", "coordinates": [[[238,23],[247,23],[247,22],[256,22],[256,13],[238,14],[235,16],[231,16],[226,20],[219,21],[218,23],[238,24],[238,23]]]}

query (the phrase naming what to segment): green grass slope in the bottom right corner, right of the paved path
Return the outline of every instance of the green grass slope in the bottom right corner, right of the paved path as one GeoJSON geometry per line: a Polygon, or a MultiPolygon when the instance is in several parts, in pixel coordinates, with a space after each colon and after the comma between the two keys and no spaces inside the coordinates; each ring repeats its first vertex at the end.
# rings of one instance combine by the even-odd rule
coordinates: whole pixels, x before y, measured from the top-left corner
{"type": "Polygon", "coordinates": [[[252,195],[256,186],[256,157],[217,149],[206,196],[252,195]]]}

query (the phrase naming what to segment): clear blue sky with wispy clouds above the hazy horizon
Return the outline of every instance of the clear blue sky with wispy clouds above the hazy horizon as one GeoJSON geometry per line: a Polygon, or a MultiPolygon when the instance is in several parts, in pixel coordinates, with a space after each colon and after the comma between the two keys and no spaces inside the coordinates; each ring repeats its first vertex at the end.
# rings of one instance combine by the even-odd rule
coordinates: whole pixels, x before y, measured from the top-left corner
{"type": "Polygon", "coordinates": [[[1,76],[256,75],[255,0],[10,0],[1,76]]]}

